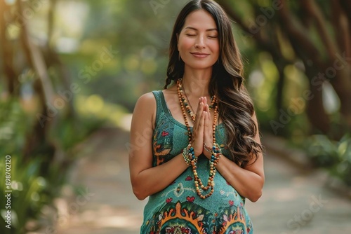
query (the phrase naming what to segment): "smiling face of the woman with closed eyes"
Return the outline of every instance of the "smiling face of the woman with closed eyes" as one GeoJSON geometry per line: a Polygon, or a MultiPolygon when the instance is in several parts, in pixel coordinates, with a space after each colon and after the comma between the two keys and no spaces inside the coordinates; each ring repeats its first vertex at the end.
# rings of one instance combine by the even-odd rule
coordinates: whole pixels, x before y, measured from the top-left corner
{"type": "Polygon", "coordinates": [[[177,36],[178,50],[185,66],[206,69],[217,62],[218,29],[208,12],[199,10],[187,15],[184,27],[177,36]]]}

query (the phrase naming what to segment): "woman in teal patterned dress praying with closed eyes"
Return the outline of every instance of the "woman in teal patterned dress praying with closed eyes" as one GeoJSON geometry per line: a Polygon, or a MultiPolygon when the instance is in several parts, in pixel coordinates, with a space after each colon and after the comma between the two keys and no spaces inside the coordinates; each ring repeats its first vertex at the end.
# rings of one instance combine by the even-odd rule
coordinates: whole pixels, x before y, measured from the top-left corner
{"type": "Polygon", "coordinates": [[[252,233],[245,198],[264,184],[262,146],[230,20],[211,0],[178,15],[165,89],[138,99],[129,156],[140,233],[252,233]],[[217,172],[217,173],[216,173],[217,172]]]}

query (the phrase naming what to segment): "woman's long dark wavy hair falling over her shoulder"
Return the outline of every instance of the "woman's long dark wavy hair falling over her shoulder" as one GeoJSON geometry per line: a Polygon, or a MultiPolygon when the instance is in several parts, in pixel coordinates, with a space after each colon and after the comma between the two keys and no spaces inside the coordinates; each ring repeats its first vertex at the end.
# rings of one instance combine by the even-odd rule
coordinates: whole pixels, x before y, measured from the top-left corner
{"type": "Polygon", "coordinates": [[[220,55],[218,62],[213,64],[208,92],[218,98],[219,115],[226,130],[226,144],[234,162],[240,167],[246,167],[250,160],[257,159],[258,153],[262,152],[262,146],[254,139],[258,129],[253,121],[253,102],[243,84],[243,64],[232,34],[232,25],[227,14],[216,1],[193,0],[180,11],[169,45],[169,62],[164,88],[167,88],[172,81],[174,83],[178,78],[183,77],[185,64],[179,59],[177,34],[183,29],[187,15],[197,10],[207,11],[216,22],[220,55]]]}

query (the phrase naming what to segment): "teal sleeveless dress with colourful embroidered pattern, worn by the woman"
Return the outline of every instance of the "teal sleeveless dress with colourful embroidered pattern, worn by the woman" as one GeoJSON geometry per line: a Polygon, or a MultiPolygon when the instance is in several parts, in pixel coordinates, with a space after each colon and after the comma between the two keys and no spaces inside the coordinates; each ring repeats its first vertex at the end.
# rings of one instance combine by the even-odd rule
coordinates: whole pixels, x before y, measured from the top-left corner
{"type": "MultiPolygon", "coordinates": [[[[157,103],[155,128],[152,137],[152,164],[166,163],[183,152],[189,144],[187,127],[171,115],[161,90],[153,91],[157,103]]],[[[225,128],[216,128],[216,141],[223,156],[225,128]]],[[[185,163],[185,162],[184,162],[185,163]]],[[[202,181],[208,179],[210,168],[205,157],[199,157],[197,171],[202,181]]],[[[150,195],[144,208],[144,221],[140,233],[253,233],[251,219],[244,207],[245,198],[230,186],[217,172],[214,193],[201,199],[195,190],[194,174],[190,167],[164,190],[150,195]]]]}

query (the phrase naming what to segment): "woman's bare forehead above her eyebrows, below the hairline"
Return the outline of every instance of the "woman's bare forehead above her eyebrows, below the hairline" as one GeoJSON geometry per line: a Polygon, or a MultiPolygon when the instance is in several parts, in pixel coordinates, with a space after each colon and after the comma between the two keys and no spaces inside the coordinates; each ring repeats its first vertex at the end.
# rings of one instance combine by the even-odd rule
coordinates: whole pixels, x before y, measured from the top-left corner
{"type": "Polygon", "coordinates": [[[216,29],[216,22],[213,20],[212,15],[204,10],[193,11],[187,18],[183,29],[192,27],[195,29],[216,29]]]}

